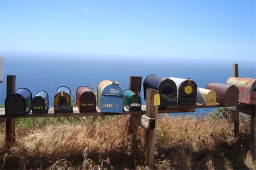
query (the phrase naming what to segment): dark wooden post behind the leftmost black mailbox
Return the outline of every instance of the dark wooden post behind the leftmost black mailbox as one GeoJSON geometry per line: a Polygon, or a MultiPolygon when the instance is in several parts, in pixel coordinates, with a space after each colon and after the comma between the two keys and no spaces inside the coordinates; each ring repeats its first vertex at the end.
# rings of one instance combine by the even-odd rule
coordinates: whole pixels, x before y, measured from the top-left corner
{"type": "MultiPolygon", "coordinates": [[[[6,96],[15,92],[16,76],[7,76],[6,96]]],[[[8,118],[6,122],[6,144],[10,147],[15,142],[15,118],[8,118]]]]}

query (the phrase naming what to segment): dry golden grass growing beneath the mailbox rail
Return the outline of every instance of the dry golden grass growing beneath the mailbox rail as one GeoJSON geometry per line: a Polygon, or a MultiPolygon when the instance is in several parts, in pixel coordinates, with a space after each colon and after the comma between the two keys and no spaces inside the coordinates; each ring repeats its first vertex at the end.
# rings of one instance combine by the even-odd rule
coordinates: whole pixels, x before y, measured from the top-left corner
{"type": "MultiPolygon", "coordinates": [[[[137,129],[135,150],[129,121],[124,116],[92,117],[76,124],[62,123],[16,128],[16,143],[0,148],[2,169],[123,169],[144,165],[144,130],[137,129]]],[[[255,169],[249,143],[249,119],[232,134],[226,119],[161,116],[158,120],[155,168],[255,169]]],[[[5,126],[0,128],[4,145],[5,126]]]]}

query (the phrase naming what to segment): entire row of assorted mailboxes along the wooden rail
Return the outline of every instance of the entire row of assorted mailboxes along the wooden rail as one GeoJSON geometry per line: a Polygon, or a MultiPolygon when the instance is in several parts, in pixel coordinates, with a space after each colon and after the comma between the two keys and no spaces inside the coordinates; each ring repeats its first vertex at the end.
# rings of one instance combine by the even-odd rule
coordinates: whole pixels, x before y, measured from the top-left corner
{"type": "MultiPolygon", "coordinates": [[[[214,106],[237,106],[238,103],[256,104],[256,81],[247,78],[229,78],[227,84],[210,82],[204,88],[198,88],[191,79],[160,78],[147,76],[143,82],[144,99],[146,89],[159,90],[160,108],[168,106],[193,106],[201,103],[214,106]]],[[[135,92],[122,90],[118,82],[104,80],[98,85],[97,100],[101,112],[123,112],[123,106],[132,110],[141,109],[141,98],[135,92]]],[[[76,102],[80,112],[96,111],[96,97],[87,86],[76,91],[76,102]]],[[[33,114],[47,113],[49,96],[46,91],[38,91],[32,99],[27,88],[19,88],[5,100],[7,115],[25,115],[31,110],[33,114]]],[[[54,96],[54,112],[72,112],[71,91],[66,86],[57,88],[54,96]]]]}

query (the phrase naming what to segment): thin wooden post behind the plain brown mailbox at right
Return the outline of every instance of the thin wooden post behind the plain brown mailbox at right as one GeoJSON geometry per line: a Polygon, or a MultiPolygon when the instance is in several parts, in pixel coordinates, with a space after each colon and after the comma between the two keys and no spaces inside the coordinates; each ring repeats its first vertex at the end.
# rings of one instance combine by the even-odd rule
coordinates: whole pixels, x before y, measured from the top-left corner
{"type": "MultiPolygon", "coordinates": [[[[238,64],[232,64],[232,77],[238,77],[238,64]]],[[[231,109],[231,121],[234,124],[234,136],[239,134],[239,111],[231,109]]]]}

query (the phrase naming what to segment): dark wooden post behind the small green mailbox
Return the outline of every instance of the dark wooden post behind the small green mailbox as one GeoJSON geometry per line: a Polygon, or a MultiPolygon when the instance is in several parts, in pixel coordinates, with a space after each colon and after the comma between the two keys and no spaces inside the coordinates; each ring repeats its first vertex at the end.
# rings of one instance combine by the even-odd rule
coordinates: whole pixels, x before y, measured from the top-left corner
{"type": "MultiPolygon", "coordinates": [[[[131,76],[130,77],[130,82],[129,82],[129,89],[134,91],[135,93],[140,93],[140,90],[141,90],[141,80],[142,80],[142,77],[134,77],[134,76],[131,76]]],[[[138,151],[138,144],[137,144],[137,139],[136,139],[136,133],[137,133],[137,130],[138,130],[138,127],[137,125],[135,125],[133,122],[132,122],[132,119],[135,119],[135,115],[130,115],[130,121],[129,121],[129,132],[131,134],[131,143],[132,143],[132,146],[131,146],[131,154],[133,157],[137,157],[137,152],[138,151]]]]}

